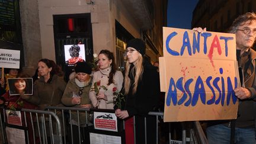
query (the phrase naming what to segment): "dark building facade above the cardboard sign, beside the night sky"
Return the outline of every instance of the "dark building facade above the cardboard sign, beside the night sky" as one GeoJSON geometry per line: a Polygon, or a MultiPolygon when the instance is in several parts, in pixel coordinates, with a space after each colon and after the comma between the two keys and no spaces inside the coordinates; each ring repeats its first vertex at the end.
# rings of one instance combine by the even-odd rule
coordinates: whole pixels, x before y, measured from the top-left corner
{"type": "Polygon", "coordinates": [[[193,11],[192,27],[226,32],[238,15],[256,11],[254,0],[200,0],[193,11]]]}

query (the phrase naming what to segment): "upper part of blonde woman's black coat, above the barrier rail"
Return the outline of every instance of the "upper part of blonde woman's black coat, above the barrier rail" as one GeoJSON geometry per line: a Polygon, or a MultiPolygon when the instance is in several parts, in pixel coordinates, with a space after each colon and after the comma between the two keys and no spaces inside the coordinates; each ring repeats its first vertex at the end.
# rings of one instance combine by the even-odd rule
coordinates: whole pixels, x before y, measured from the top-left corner
{"type": "MultiPolygon", "coordinates": [[[[133,65],[131,65],[130,69],[132,68],[133,65]]],[[[131,84],[133,84],[134,76],[131,75],[130,70],[129,77],[131,79],[131,84]]],[[[136,94],[132,94],[132,88],[133,87],[130,87],[124,108],[128,111],[129,116],[145,116],[149,111],[153,111],[153,109],[158,106],[160,95],[159,75],[156,71],[156,67],[149,62],[143,62],[142,79],[137,85],[136,94]]]]}

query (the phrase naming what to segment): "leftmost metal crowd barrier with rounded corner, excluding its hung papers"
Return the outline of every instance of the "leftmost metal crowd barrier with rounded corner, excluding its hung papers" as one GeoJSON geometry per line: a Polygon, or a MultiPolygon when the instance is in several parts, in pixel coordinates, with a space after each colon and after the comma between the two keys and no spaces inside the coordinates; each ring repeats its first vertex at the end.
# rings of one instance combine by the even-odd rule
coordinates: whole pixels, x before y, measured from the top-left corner
{"type": "MultiPolygon", "coordinates": [[[[16,113],[16,111],[15,111],[16,113]]],[[[8,143],[8,140],[14,140],[14,137],[7,137],[6,129],[11,127],[16,130],[24,130],[26,143],[60,143],[62,144],[62,134],[60,120],[55,113],[51,111],[32,110],[22,108],[21,126],[9,124],[7,121],[7,113],[5,109],[1,110],[1,135],[3,137],[2,143],[8,143]],[[56,124],[56,130],[53,129],[53,123],[56,124]],[[49,131],[49,132],[48,132],[49,131]]],[[[16,131],[13,131],[16,132],[16,131]]],[[[19,133],[15,133],[19,135],[19,133]]],[[[22,137],[21,137],[22,138],[22,137]]]]}

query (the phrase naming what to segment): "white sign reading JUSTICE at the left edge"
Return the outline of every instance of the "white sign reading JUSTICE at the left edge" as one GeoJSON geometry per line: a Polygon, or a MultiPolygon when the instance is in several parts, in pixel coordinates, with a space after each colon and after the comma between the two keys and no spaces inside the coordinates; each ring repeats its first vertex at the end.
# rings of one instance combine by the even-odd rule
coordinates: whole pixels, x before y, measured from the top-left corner
{"type": "Polygon", "coordinates": [[[20,68],[20,50],[0,49],[0,68],[20,68]]]}

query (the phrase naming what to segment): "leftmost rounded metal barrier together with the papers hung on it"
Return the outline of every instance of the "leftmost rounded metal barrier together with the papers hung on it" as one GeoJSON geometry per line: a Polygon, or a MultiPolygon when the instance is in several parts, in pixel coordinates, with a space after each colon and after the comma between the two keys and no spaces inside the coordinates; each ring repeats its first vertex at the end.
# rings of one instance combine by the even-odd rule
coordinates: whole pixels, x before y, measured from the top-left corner
{"type": "Polygon", "coordinates": [[[51,111],[21,109],[1,110],[3,143],[60,143],[60,120],[51,111]],[[3,119],[2,119],[3,118],[3,119]],[[53,123],[56,130],[53,129],[53,123]]]}

